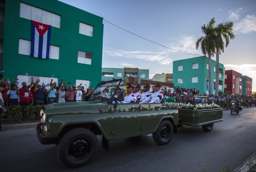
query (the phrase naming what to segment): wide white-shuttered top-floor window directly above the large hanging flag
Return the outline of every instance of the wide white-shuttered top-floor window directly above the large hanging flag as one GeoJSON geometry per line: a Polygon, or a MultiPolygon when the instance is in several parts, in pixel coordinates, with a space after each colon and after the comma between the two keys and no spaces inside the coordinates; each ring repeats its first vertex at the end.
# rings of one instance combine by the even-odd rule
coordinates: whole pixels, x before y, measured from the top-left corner
{"type": "Polygon", "coordinates": [[[20,3],[19,17],[61,28],[60,15],[39,9],[37,7],[33,7],[22,2],[20,3]]]}

